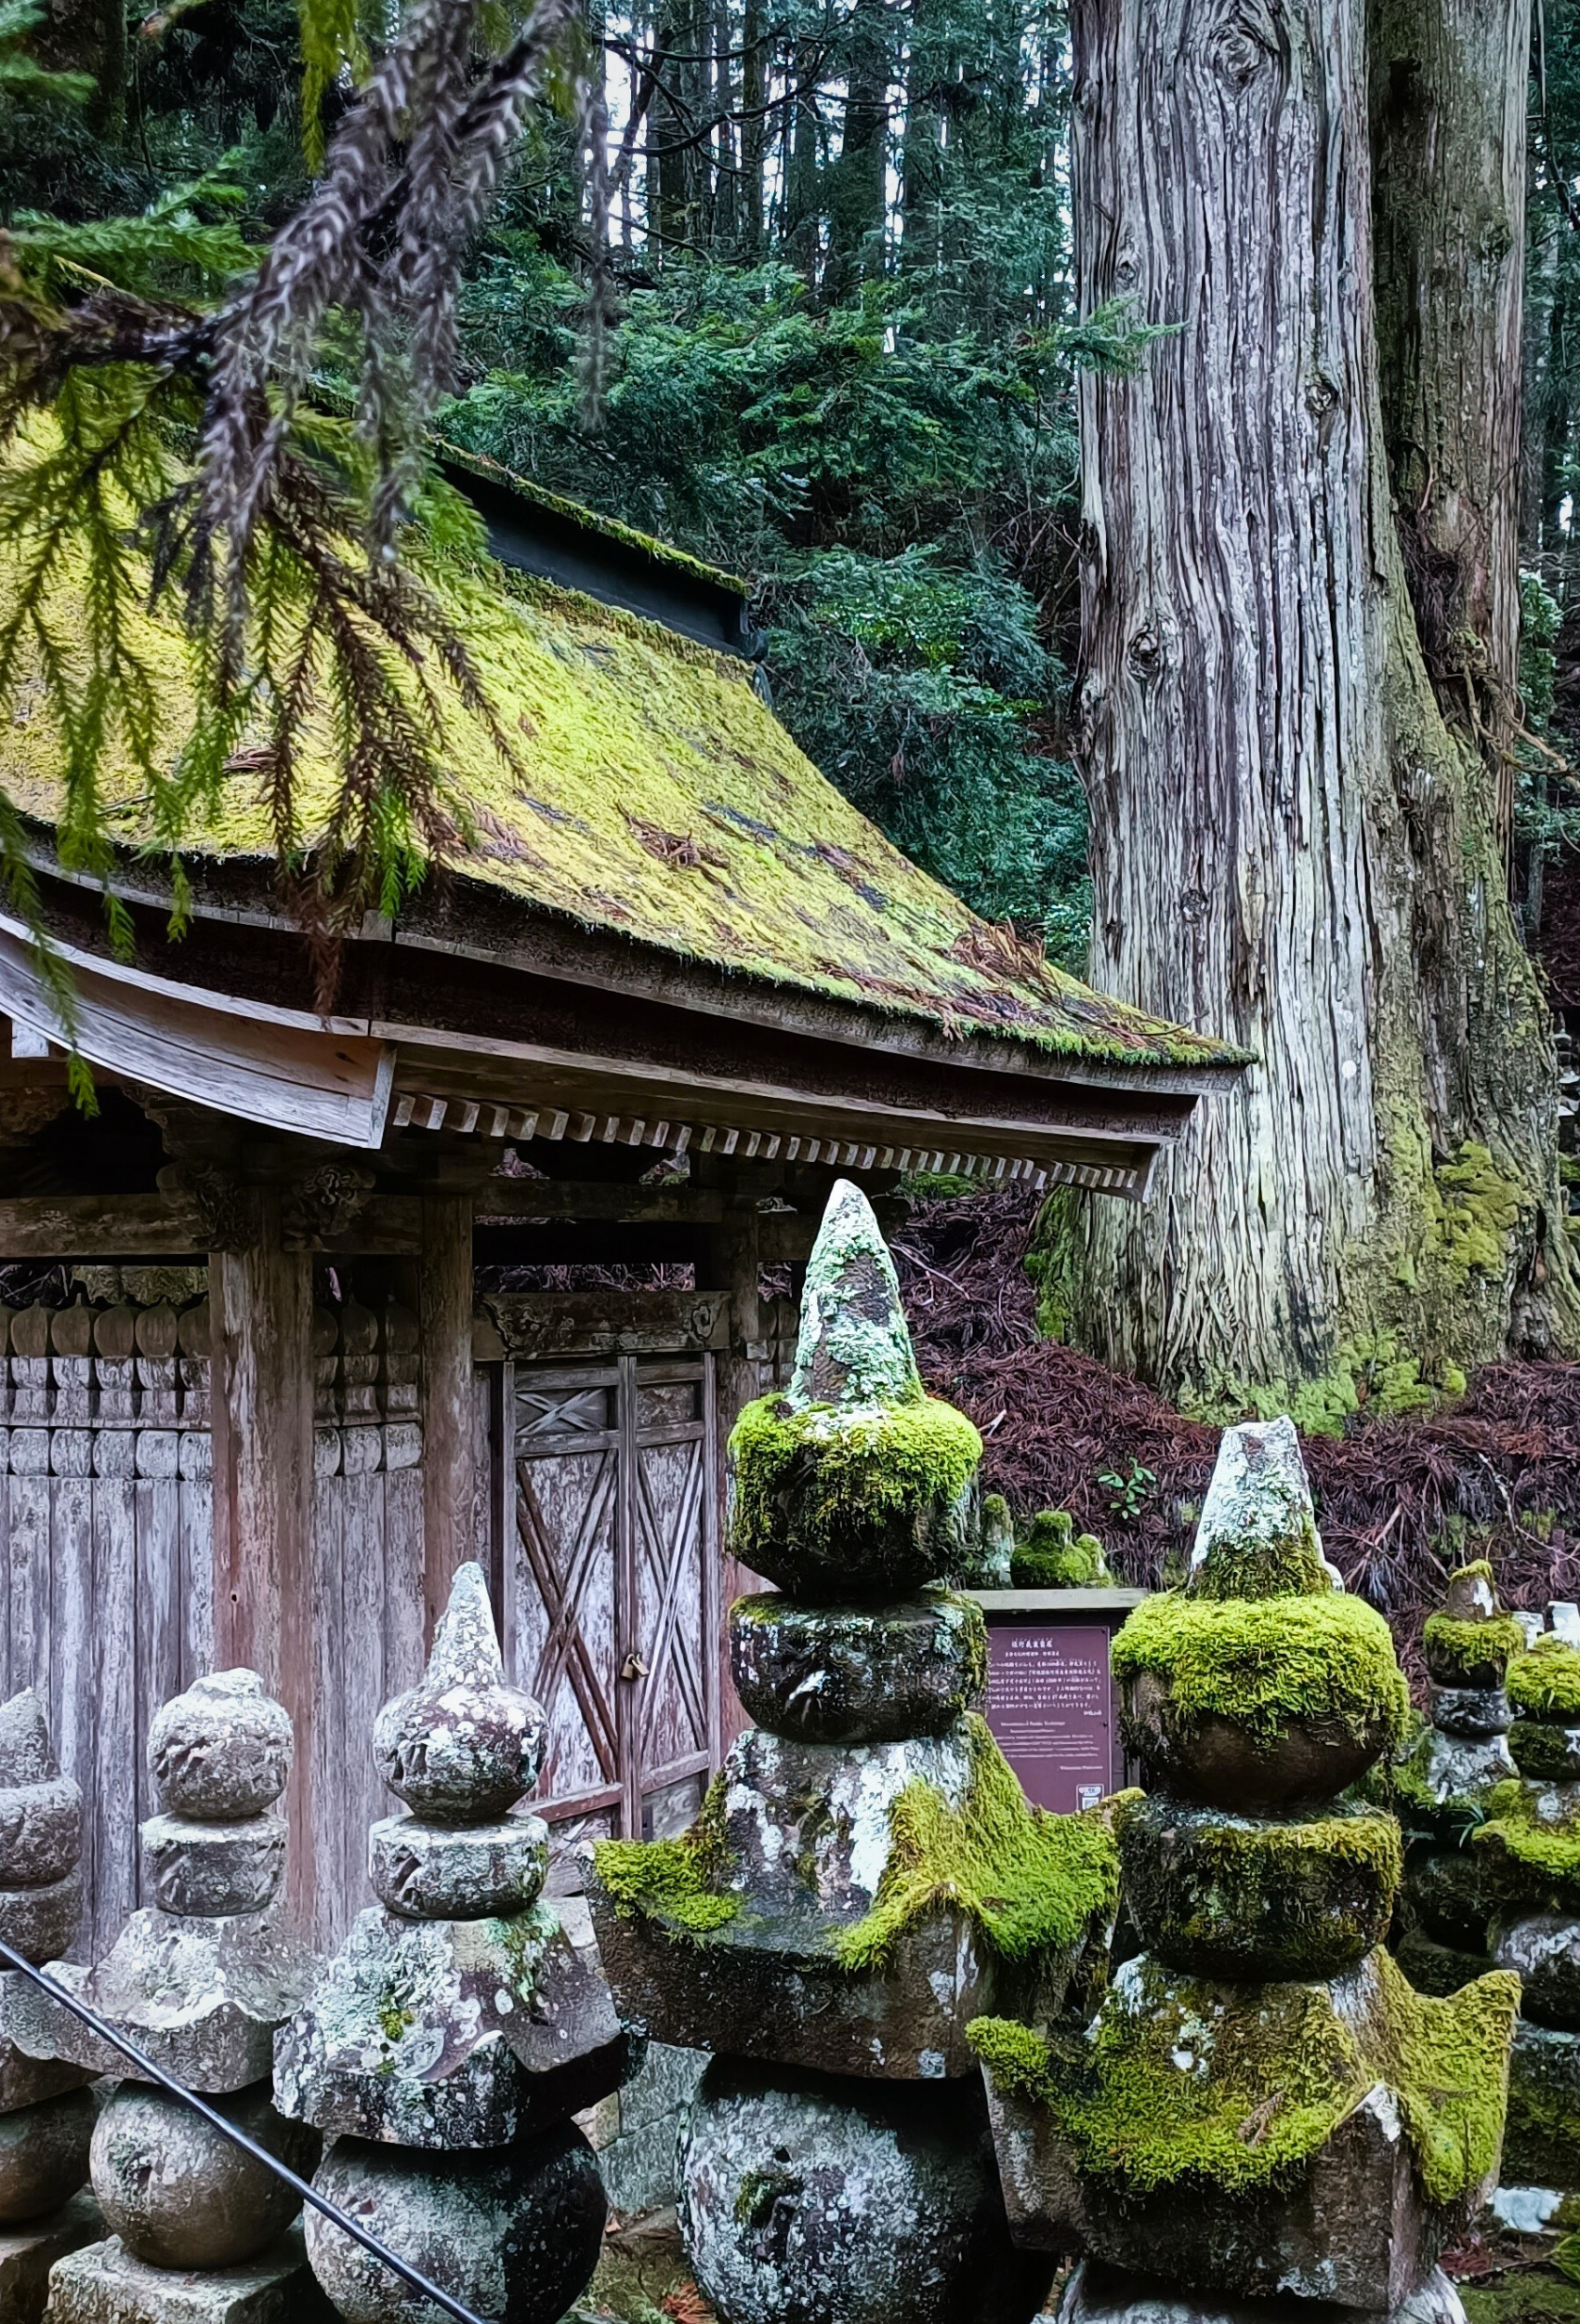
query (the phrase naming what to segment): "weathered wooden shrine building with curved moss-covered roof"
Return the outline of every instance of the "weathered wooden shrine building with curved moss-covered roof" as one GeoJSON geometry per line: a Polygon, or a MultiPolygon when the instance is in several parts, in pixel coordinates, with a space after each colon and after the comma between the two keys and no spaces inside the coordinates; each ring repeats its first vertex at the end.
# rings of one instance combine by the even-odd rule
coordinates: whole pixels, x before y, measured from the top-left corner
{"type": "Polygon", "coordinates": [[[46,718],[0,734],[100,1095],[67,1102],[0,920],[0,1697],[40,1687],[93,1803],[88,1948],[137,1901],[149,1715],[237,1662],[297,1722],[297,1903],[342,1934],[372,1715],[474,1555],[551,1713],[546,1813],[678,1829],[730,1731],[723,1436],[778,1376],[762,1276],[795,1290],[832,1178],[1141,1199],[1238,1069],[864,823],[760,697],[737,586],[462,481],[520,774],[455,713],[472,844],[346,944],[335,1016],[242,776],[179,944],[125,799],[116,957],[51,853],[46,718]]]}

